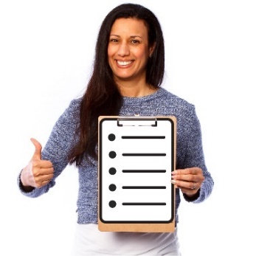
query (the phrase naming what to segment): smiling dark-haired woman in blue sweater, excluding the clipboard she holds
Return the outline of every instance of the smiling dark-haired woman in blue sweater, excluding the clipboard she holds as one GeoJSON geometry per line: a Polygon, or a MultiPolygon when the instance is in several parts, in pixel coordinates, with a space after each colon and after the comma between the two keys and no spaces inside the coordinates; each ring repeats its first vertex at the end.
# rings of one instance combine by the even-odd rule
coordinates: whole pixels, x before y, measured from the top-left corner
{"type": "Polygon", "coordinates": [[[176,116],[176,224],[180,196],[198,203],[212,192],[201,128],[193,105],[161,88],[165,46],[156,16],[139,4],[121,4],[100,27],[94,71],[86,92],[72,100],[42,151],[18,176],[21,193],[37,197],[55,185],[67,165],[79,171],[75,255],[180,255],[170,233],[100,232],[97,229],[97,122],[99,116],[176,116]]]}

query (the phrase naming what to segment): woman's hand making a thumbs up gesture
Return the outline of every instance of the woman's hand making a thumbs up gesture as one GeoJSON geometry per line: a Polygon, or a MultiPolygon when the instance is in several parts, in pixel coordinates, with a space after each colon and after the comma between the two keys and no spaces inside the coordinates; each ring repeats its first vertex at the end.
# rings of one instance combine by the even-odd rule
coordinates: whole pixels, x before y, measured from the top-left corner
{"type": "Polygon", "coordinates": [[[52,162],[41,159],[42,146],[36,139],[30,139],[35,152],[29,164],[21,171],[21,183],[24,187],[43,187],[53,177],[52,162]]]}

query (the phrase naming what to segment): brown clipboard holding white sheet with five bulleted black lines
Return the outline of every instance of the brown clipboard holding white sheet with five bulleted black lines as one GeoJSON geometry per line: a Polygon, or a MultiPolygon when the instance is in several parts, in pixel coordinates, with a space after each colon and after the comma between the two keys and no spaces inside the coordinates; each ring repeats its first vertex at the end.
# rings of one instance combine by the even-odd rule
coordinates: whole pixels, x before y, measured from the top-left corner
{"type": "Polygon", "coordinates": [[[98,118],[98,229],[173,232],[176,117],[98,118]]]}

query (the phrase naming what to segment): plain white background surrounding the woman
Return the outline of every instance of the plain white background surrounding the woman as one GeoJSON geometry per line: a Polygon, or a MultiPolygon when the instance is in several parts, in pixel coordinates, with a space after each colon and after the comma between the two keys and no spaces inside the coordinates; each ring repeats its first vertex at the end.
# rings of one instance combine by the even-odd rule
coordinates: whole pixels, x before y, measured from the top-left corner
{"type": "MultiPolygon", "coordinates": [[[[76,223],[77,172],[49,193],[21,196],[19,171],[86,88],[97,32],[125,1],[0,1],[0,255],[67,255],[76,223]]],[[[256,255],[255,1],[139,2],[165,35],[163,86],[196,105],[215,180],[202,204],[181,201],[182,256],[256,255]]]]}

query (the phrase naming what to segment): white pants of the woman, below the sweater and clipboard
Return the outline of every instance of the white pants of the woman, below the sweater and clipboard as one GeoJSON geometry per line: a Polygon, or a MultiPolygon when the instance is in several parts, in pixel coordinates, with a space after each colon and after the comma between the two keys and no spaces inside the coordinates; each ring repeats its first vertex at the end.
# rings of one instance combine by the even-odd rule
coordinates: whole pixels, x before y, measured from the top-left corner
{"type": "Polygon", "coordinates": [[[100,232],[97,224],[77,224],[72,256],[181,255],[172,233],[100,232]]]}

